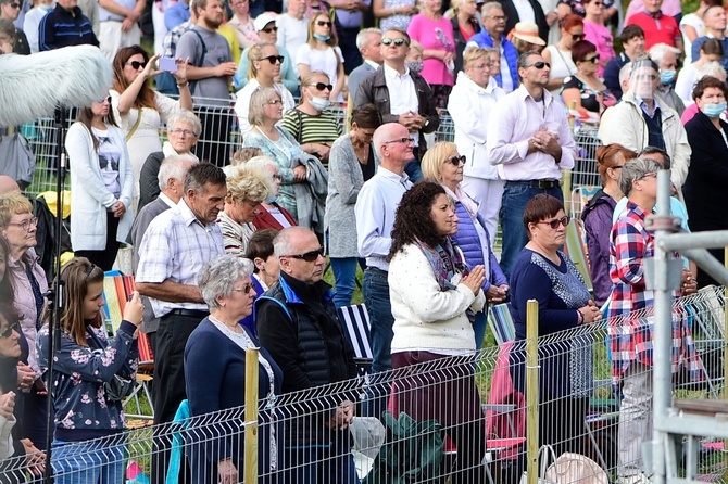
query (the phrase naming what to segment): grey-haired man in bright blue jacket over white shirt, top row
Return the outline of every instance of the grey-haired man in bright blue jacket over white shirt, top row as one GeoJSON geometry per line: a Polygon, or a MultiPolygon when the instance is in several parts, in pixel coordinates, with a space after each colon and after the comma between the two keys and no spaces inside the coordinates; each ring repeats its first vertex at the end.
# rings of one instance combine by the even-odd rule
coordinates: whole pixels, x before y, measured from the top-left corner
{"type": "Polygon", "coordinates": [[[503,7],[498,2],[484,4],[480,8],[480,18],[482,30],[470,37],[467,47],[498,49],[501,52],[501,73],[495,76],[495,81],[506,93],[512,92],[518,87],[518,51],[503,36],[506,21],[503,7]]]}

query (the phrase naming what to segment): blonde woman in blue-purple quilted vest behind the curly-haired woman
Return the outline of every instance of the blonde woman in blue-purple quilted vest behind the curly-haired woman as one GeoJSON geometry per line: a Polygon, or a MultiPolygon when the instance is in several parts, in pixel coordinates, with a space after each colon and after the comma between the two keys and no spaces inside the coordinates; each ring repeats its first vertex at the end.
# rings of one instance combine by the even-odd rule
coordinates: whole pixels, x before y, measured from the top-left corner
{"type": "MultiPolygon", "coordinates": [[[[425,179],[440,183],[448,196],[454,201],[459,221],[457,231],[452,235],[452,241],[463,251],[468,266],[485,268],[486,278],[482,281],[482,292],[487,301],[501,303],[507,294],[509,282],[493,254],[490,234],[486,228],[486,221],[478,213],[477,202],[461,188],[463,166],[466,164],[466,156],[460,155],[454,143],[441,141],[427,150],[422,167],[425,179]]],[[[473,329],[478,349],[486,334],[486,310],[475,313],[473,329]]]]}

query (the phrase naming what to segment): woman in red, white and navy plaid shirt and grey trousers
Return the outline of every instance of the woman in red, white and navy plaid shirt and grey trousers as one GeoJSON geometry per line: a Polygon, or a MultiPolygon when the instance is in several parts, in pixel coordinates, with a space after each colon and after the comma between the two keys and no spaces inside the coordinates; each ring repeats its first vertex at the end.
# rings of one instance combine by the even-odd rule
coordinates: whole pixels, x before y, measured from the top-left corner
{"type": "MultiPolygon", "coordinates": [[[[627,195],[627,208],[612,229],[610,276],[614,289],[608,317],[612,379],[622,384],[617,475],[624,482],[648,482],[643,472],[642,443],[652,436],[652,362],[654,292],[647,289],[644,260],[654,255],[654,233],[644,220],[657,201],[657,171],[662,165],[639,157],[625,163],[619,188],[627,195]],[[644,309],[645,317],[631,317],[644,309]]],[[[691,277],[683,270],[683,283],[691,277]]],[[[675,293],[674,296],[678,294],[675,293]]],[[[662,321],[661,321],[662,322],[662,321]]],[[[667,330],[667,328],[665,328],[667,330]]],[[[688,318],[673,314],[671,367],[686,370],[689,380],[702,377],[688,318]]]]}

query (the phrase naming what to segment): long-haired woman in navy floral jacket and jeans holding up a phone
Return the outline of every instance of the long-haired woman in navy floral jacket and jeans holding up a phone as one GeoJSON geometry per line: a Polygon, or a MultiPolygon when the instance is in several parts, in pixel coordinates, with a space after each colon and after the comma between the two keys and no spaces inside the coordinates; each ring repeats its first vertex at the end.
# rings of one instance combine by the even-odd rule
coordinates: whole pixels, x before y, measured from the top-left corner
{"type": "MultiPolygon", "coordinates": [[[[124,306],[116,335],[108,337],[101,308],[103,270],[85,257],[61,268],[63,314],[53,355],[53,472],[57,484],[124,482],[126,420],[113,382],[134,380],[139,365],[137,334],[143,307],[136,291],[124,306]]],[[[58,331],[58,330],[57,330],[58,331]]],[[[49,323],[38,331],[38,362],[48,371],[49,323]]]]}

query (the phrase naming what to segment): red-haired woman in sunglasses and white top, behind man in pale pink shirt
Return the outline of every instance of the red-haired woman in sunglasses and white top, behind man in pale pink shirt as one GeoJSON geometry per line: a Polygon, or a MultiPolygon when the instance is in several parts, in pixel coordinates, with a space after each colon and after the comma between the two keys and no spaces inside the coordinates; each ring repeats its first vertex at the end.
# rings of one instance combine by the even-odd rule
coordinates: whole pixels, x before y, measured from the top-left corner
{"type": "Polygon", "coordinates": [[[541,52],[543,60],[551,64],[547,89],[558,99],[564,79],[576,74],[576,65],[572,60],[572,47],[583,40],[583,18],[577,14],[568,14],[558,21],[561,39],[547,46],[541,52]]]}

